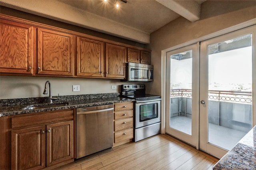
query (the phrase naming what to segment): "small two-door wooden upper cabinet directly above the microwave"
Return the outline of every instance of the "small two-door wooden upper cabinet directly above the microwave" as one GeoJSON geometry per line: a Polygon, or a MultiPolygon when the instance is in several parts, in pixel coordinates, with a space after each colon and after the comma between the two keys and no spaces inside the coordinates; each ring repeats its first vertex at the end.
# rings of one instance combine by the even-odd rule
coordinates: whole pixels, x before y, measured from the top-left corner
{"type": "Polygon", "coordinates": [[[139,49],[128,48],[128,62],[151,64],[151,53],[139,49]]]}

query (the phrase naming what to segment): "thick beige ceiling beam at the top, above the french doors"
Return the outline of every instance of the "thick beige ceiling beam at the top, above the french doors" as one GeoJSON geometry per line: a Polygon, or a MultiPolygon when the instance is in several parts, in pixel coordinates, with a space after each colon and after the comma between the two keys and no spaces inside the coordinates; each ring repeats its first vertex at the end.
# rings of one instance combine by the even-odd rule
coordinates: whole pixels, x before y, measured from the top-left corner
{"type": "Polygon", "coordinates": [[[194,0],[156,0],[170,10],[194,22],[200,19],[201,4],[194,0]]]}

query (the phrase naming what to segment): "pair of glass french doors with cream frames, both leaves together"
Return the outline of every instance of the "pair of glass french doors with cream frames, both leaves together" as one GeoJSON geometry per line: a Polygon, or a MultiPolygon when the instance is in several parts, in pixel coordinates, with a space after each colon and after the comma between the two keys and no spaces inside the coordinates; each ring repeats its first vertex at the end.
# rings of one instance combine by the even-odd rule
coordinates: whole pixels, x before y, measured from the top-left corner
{"type": "Polygon", "coordinates": [[[166,133],[221,158],[255,125],[255,30],[167,52],[166,133]]]}

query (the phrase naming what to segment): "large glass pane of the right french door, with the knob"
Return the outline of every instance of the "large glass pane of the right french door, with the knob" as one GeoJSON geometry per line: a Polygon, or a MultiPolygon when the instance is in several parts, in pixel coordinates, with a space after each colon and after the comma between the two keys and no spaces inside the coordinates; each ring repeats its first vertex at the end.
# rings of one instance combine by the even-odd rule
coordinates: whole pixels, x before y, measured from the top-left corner
{"type": "Polygon", "coordinates": [[[230,150],[252,128],[252,35],[208,45],[208,142],[230,150]]]}

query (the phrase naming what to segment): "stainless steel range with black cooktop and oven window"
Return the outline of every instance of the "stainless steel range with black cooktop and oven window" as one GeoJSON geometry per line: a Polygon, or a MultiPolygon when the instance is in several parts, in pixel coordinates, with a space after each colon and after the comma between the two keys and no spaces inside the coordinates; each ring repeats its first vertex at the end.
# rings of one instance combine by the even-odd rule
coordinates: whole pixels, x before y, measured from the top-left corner
{"type": "Polygon", "coordinates": [[[161,97],[145,94],[145,85],[121,85],[122,96],[135,99],[134,142],[160,133],[161,97]]]}

